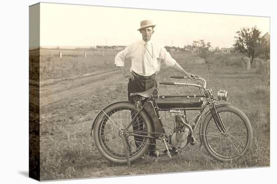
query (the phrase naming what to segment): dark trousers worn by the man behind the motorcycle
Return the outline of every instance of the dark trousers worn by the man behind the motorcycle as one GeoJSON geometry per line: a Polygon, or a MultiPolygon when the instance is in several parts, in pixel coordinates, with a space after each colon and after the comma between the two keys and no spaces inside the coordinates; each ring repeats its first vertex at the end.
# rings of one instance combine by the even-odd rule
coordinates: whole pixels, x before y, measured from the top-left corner
{"type": "MultiPolygon", "coordinates": [[[[134,103],[133,96],[130,96],[130,93],[144,92],[152,87],[157,87],[157,81],[156,81],[155,75],[152,75],[151,77],[147,77],[146,79],[144,79],[143,76],[139,76],[136,74],[135,80],[133,80],[133,81],[129,80],[129,83],[128,83],[128,100],[131,103],[134,103]]],[[[134,115],[132,115],[132,119],[133,119],[134,115]]],[[[132,125],[132,127],[133,127],[134,131],[142,131],[143,130],[143,125],[138,124],[138,121],[135,121],[135,123],[132,125]]],[[[135,145],[138,149],[140,149],[140,145],[141,145],[141,142],[143,141],[143,139],[144,139],[143,137],[134,136],[135,145]]],[[[152,143],[155,144],[156,141],[153,140],[152,143]]],[[[154,151],[154,150],[155,150],[155,145],[150,145],[149,151],[154,151]]]]}

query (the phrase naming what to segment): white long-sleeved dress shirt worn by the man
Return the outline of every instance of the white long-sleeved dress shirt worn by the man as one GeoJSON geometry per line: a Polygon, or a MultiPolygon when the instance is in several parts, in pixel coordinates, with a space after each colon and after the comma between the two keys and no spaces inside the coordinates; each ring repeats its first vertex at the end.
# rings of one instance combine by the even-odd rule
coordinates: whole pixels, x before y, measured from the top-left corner
{"type": "Polygon", "coordinates": [[[146,42],[142,40],[127,46],[116,55],[114,64],[123,67],[125,59],[130,58],[130,72],[143,76],[158,73],[161,68],[161,61],[164,61],[165,65],[169,67],[175,65],[176,61],[164,47],[151,41],[147,42],[147,46],[145,44],[146,42]]]}

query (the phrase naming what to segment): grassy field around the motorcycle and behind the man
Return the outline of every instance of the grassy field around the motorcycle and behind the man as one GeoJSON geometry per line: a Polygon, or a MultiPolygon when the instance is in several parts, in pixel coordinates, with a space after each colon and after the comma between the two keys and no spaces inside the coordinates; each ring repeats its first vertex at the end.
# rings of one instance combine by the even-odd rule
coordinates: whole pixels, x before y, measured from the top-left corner
{"type": "MultiPolygon", "coordinates": [[[[42,50],[40,75],[45,86],[60,83],[71,89],[73,81],[108,70],[118,70],[113,64],[114,53],[68,53],[58,58],[55,50],[42,50]],[[77,55],[77,56],[76,56],[77,55]],[[46,85],[47,84],[47,85],[46,85]]],[[[215,93],[220,89],[229,91],[229,102],[241,109],[249,118],[253,128],[253,144],[239,159],[220,162],[213,159],[202,146],[199,150],[199,136],[194,146],[187,145],[179,156],[169,158],[146,157],[132,164],[117,165],[103,158],[90,136],[90,129],[98,111],[106,105],[127,98],[127,79],[106,76],[108,86],[97,85],[87,88],[87,93],[65,98],[62,103],[41,104],[40,114],[40,164],[41,179],[70,179],[84,177],[150,174],[225,168],[269,166],[269,78],[263,71],[246,70],[236,66],[212,65],[208,70],[203,61],[190,53],[174,53],[173,58],[185,70],[207,81],[207,87],[215,93]]],[[[157,81],[179,81],[170,75],[179,73],[162,66],[157,81]]],[[[87,83],[80,86],[86,87],[87,83]]],[[[159,85],[159,94],[191,93],[190,88],[159,85]]],[[[51,92],[51,88],[47,88],[51,92]]],[[[193,115],[193,113],[189,114],[193,115]]],[[[192,119],[192,116],[188,116],[192,119]]],[[[166,122],[173,123],[173,122],[166,122]]]]}

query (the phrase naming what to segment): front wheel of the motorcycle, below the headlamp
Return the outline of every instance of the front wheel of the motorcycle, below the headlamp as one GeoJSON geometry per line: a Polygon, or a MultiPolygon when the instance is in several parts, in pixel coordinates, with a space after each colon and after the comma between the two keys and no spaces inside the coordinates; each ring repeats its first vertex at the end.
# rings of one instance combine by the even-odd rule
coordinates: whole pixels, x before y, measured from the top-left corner
{"type": "Polygon", "coordinates": [[[252,144],[252,127],[249,119],[239,109],[232,106],[217,108],[228,135],[217,128],[210,112],[203,121],[201,136],[207,152],[215,159],[229,161],[243,155],[252,144]]]}

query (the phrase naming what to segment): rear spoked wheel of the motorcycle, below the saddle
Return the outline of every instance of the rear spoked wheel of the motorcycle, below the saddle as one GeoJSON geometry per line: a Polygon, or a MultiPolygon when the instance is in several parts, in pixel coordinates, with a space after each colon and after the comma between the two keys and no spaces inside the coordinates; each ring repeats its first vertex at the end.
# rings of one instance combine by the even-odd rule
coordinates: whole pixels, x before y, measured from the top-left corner
{"type": "MultiPolygon", "coordinates": [[[[94,141],[98,151],[106,159],[115,163],[127,163],[125,146],[120,136],[120,129],[123,130],[131,122],[132,116],[139,111],[134,104],[129,102],[118,102],[105,108],[95,123],[94,141]],[[133,115],[131,115],[131,113],[133,115]]],[[[139,124],[139,129],[131,125],[128,130],[136,133],[151,136],[152,125],[145,111],[141,111],[134,123],[139,124]]],[[[151,138],[129,135],[124,141],[128,149],[129,161],[135,161],[143,156],[148,150],[151,138]]]]}

